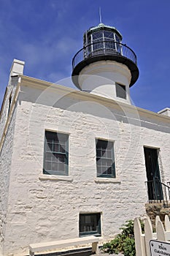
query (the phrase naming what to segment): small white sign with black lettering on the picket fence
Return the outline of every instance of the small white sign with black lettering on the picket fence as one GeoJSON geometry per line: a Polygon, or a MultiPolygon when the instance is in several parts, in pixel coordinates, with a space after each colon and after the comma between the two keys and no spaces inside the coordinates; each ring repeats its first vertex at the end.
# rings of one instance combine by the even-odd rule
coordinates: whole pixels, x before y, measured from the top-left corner
{"type": "Polygon", "coordinates": [[[150,255],[151,256],[170,256],[170,242],[150,240],[150,255]]]}

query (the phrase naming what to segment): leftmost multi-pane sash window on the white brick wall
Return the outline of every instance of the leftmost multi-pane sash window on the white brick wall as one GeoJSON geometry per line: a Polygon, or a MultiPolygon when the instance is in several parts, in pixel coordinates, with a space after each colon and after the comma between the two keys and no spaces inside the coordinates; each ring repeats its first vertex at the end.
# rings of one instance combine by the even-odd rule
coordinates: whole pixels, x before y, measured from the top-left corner
{"type": "Polygon", "coordinates": [[[44,174],[68,175],[69,135],[45,131],[44,174]]]}

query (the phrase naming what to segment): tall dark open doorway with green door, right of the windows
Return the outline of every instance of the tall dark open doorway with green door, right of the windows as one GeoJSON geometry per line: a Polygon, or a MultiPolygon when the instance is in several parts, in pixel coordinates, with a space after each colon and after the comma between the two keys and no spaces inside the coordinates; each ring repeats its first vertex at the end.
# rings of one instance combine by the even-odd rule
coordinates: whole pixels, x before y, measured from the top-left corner
{"type": "Polygon", "coordinates": [[[161,176],[158,164],[158,149],[144,147],[149,200],[163,200],[161,176]]]}

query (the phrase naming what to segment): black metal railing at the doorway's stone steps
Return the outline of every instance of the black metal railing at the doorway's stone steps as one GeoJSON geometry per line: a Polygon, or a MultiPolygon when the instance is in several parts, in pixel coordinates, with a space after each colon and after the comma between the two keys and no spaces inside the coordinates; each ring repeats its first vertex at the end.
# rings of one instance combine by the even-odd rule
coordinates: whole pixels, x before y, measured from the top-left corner
{"type": "Polygon", "coordinates": [[[170,187],[162,183],[158,178],[153,181],[145,181],[149,203],[163,203],[163,206],[169,207],[170,187]]]}

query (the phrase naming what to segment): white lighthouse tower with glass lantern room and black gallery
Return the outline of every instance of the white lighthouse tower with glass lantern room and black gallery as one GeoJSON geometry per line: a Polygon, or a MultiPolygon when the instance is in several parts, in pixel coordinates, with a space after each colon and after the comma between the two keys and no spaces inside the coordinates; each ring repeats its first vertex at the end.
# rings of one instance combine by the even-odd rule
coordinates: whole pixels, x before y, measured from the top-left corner
{"type": "Polygon", "coordinates": [[[130,87],[139,77],[136,54],[113,26],[99,23],[83,35],[72,60],[72,80],[82,91],[131,104],[130,87]]]}

